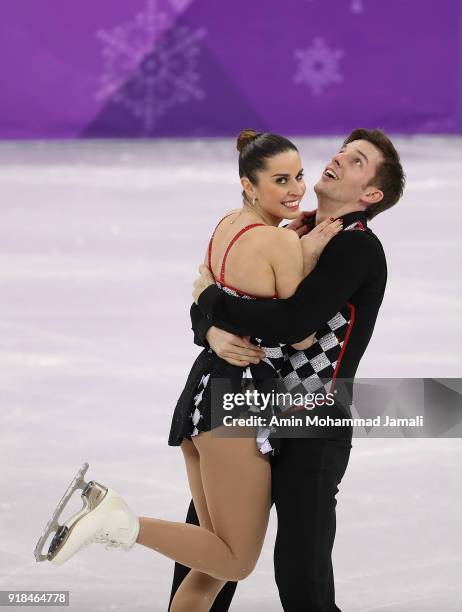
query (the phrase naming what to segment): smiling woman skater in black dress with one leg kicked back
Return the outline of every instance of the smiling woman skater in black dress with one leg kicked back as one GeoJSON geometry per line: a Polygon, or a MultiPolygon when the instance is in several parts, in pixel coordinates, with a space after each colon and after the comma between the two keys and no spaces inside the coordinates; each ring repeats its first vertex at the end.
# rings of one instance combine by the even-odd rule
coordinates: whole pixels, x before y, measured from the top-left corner
{"type": "MultiPolygon", "coordinates": [[[[297,148],[282,136],[244,130],[237,149],[243,206],[218,224],[204,263],[216,282],[234,295],[287,298],[314,268],[324,246],[341,230],[341,222],[319,224],[304,238],[303,254],[298,235],[278,227],[283,219],[298,216],[306,190],[297,148]]],[[[303,349],[311,342],[308,338],[294,346],[303,349]]],[[[210,381],[225,378],[239,385],[243,377],[276,377],[283,347],[267,347],[263,339],[259,344],[262,360],[249,368],[202,351],[175,409],[169,444],[183,451],[200,527],[137,517],[113,489],[83,481],[86,464],[39,541],[59,527],[48,554],[39,558],[38,544],[37,560],[61,565],[93,542],[126,551],[142,544],[192,568],[175,594],[171,612],[207,611],[226,581],[246,578],[258,560],[268,525],[269,454],[275,442],[265,435],[257,439],[253,429],[249,436],[248,428],[239,437],[214,435],[210,381]],[[59,526],[57,518],[76,488],[83,489],[84,508],[59,526]]]]}

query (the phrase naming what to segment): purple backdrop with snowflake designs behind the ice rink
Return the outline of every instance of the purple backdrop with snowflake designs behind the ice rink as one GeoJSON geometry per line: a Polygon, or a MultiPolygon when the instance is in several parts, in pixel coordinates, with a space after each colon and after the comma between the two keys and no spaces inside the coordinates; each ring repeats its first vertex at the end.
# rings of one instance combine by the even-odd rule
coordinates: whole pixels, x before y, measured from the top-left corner
{"type": "Polygon", "coordinates": [[[0,137],[462,132],[461,0],[10,0],[0,137]]]}

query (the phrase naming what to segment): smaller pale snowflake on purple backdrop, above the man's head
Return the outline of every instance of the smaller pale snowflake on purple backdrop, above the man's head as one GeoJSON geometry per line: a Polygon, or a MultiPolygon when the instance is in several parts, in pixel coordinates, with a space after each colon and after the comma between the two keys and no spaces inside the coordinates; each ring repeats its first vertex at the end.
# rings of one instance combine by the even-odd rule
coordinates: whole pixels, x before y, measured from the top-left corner
{"type": "Polygon", "coordinates": [[[297,49],[294,55],[298,60],[294,82],[309,86],[315,96],[322,94],[329,85],[343,80],[339,72],[339,61],[343,57],[343,51],[330,49],[323,38],[315,38],[311,47],[297,49]]]}

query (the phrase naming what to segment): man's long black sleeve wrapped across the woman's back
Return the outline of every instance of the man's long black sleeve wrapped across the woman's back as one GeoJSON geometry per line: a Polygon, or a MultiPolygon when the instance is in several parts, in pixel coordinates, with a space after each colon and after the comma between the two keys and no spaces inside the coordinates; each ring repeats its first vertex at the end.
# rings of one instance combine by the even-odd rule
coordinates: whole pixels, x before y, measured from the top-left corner
{"type": "Polygon", "coordinates": [[[215,320],[226,321],[241,335],[293,344],[331,319],[382,269],[383,252],[376,238],[365,231],[345,231],[329,242],[316,268],[292,297],[243,300],[212,285],[200,295],[199,307],[213,324],[215,320]]]}

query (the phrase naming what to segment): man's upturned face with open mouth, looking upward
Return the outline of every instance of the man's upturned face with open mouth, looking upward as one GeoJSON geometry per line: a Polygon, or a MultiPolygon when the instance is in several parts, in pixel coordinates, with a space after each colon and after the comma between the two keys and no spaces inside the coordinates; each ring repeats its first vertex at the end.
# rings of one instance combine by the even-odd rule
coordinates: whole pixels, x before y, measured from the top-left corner
{"type": "Polygon", "coordinates": [[[370,142],[349,142],[332,157],[314,190],[318,195],[338,201],[340,206],[364,203],[370,187],[377,187],[372,179],[381,161],[382,153],[370,142]]]}

